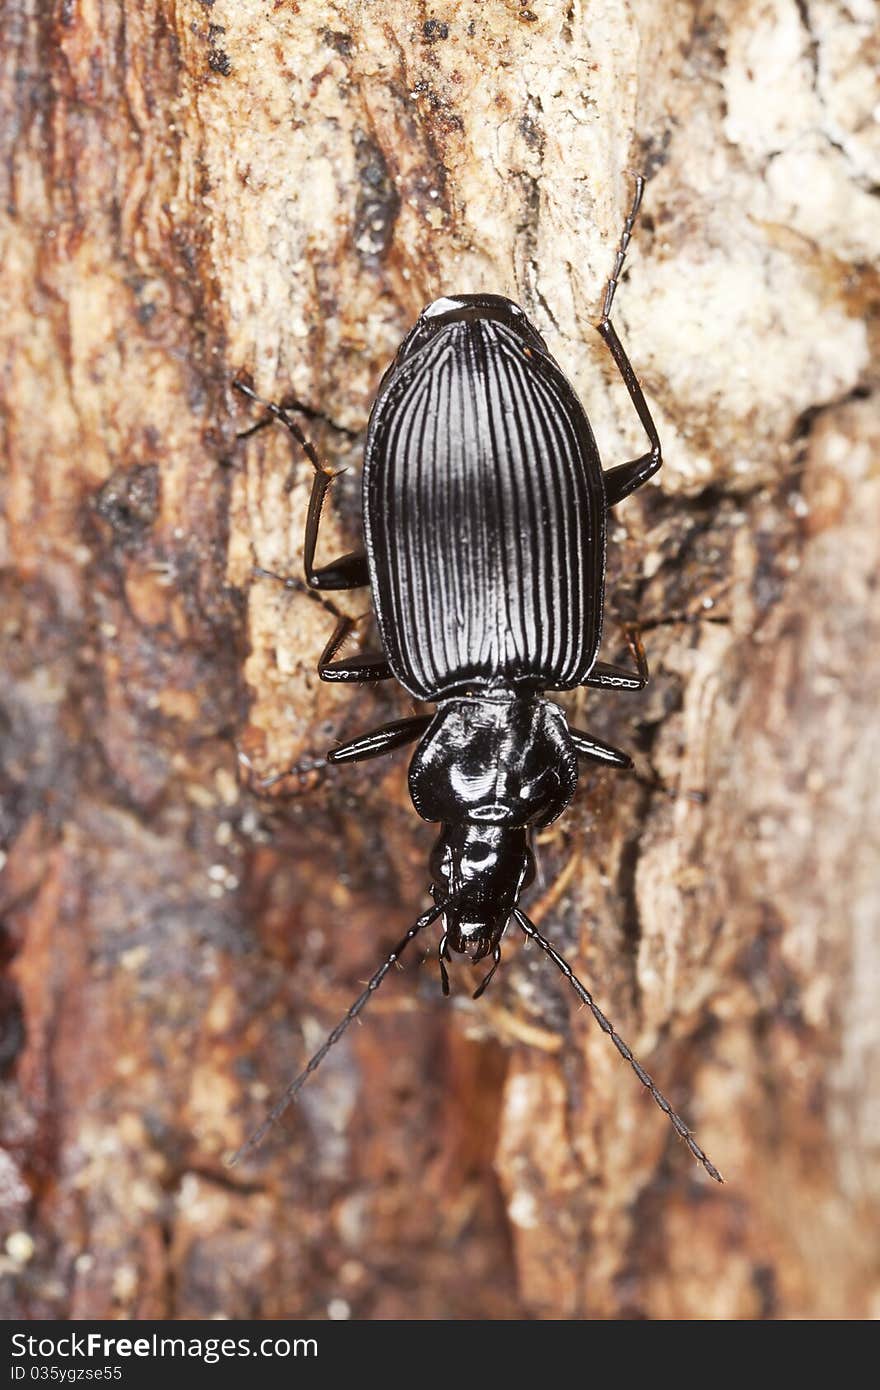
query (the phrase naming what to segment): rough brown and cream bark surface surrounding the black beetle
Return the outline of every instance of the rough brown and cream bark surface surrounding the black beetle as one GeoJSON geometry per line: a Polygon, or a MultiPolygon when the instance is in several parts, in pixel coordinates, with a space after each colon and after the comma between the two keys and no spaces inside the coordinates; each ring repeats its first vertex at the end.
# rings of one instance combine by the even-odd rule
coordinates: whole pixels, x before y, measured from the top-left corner
{"type": "Polygon", "coordinates": [[[7,0],[3,33],[3,1315],[877,1315],[876,4],[7,0]],[[236,442],[229,382],[320,411],[327,557],[442,292],[520,300],[630,457],[591,321],[631,170],[616,316],[667,461],[612,528],[606,656],[638,620],[653,680],[564,699],[638,776],[582,777],[530,901],[727,1184],[519,948],[478,1004],[414,951],[229,1170],[432,840],[405,755],[321,770],[409,702],[321,685],[332,620],[253,577],[300,573],[309,466],[236,442]]]}

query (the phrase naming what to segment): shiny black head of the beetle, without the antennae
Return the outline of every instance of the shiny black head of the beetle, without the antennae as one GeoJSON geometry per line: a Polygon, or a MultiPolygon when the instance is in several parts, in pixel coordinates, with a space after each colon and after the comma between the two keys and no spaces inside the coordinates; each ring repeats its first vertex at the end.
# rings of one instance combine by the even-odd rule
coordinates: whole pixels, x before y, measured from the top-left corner
{"type": "Polygon", "coordinates": [[[460,894],[443,913],[449,948],[482,960],[500,941],[520,892],[534,876],[524,828],[470,821],[443,826],[431,853],[431,892],[437,903],[460,894]]]}

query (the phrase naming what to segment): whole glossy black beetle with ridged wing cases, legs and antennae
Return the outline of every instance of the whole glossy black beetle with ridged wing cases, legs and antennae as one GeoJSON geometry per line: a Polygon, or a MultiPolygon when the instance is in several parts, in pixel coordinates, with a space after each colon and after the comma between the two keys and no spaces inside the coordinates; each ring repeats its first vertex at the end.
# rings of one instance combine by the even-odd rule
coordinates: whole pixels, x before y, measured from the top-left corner
{"type": "MultiPolygon", "coordinates": [[[[338,623],[318,662],[321,680],[393,677],[416,699],[437,705],[432,714],[395,720],[342,744],[328,760],[361,762],[420,739],[409,773],[413,805],[424,820],[442,824],[431,855],[435,906],[407,930],[236,1158],[260,1143],[425,927],[442,916],[443,994],[452,951],[471,962],[492,958],[478,998],[516,919],[591,1009],[691,1154],[722,1182],[567,960],[519,906],[535,872],[532,831],[571,801],[578,758],[633,766],[620,749],[570,728],[545,691],[637,691],[648,681],[638,637],[631,641],[635,671],[596,660],[608,512],[662,463],[651,411],[610,322],[642,190],[639,178],[598,324],[651,443],[630,463],[603,471],[582,406],[512,300],[438,299],[403,339],[373,406],[363,468],[366,546],[318,569],[318,523],[334,475],[288,414],[293,407],[261,402],[235,382],[268,409],[242,438],[279,420],[314,467],[304,541],[309,592],[373,591],[382,651],[338,660],[353,623],[328,605],[338,623]]],[[[298,580],[282,582],[302,588],[298,580]]]]}

